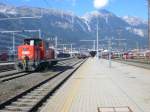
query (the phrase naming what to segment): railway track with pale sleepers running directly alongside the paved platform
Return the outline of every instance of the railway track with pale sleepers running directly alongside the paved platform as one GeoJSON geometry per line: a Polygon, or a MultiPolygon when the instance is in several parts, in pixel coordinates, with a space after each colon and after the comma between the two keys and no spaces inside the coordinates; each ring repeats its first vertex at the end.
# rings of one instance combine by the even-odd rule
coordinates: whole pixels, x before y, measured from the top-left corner
{"type": "Polygon", "coordinates": [[[73,63],[73,69],[61,71],[21,94],[0,104],[0,112],[35,112],[83,63],[73,63]]]}

